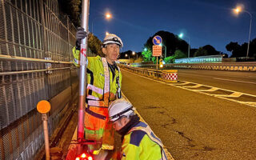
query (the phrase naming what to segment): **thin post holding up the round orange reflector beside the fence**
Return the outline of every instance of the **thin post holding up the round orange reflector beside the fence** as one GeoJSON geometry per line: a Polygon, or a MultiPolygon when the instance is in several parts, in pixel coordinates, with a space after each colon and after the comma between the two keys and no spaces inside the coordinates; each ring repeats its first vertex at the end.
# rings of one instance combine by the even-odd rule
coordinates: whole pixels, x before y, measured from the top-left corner
{"type": "Polygon", "coordinates": [[[46,160],[50,160],[50,146],[49,146],[49,136],[48,136],[48,126],[47,126],[47,115],[46,114],[42,114],[42,125],[43,125],[43,134],[45,137],[46,160]]]}

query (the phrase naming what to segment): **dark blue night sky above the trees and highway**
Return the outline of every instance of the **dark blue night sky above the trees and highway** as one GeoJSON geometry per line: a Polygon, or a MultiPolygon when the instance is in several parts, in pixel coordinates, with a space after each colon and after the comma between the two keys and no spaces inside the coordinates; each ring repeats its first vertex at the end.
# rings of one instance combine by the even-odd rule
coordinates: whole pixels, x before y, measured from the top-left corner
{"type": "Polygon", "coordinates": [[[235,16],[232,8],[237,4],[253,14],[250,39],[256,38],[256,0],[90,0],[89,30],[93,22],[93,32],[101,40],[106,31],[117,34],[124,43],[122,51],[142,51],[150,36],[165,30],[183,32],[191,48],[210,44],[230,54],[229,42],[248,42],[250,15],[235,16]],[[104,18],[106,11],[112,19],[104,18]]]}

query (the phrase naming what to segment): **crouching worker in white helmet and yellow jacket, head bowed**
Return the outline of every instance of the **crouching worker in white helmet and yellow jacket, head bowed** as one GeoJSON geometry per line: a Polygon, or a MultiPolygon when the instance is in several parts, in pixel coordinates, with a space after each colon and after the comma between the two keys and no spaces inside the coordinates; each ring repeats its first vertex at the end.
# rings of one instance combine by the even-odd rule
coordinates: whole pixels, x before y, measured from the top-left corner
{"type": "Polygon", "coordinates": [[[146,122],[140,121],[134,107],[124,98],[111,103],[110,121],[122,135],[122,160],[166,160],[161,140],[146,122]]]}

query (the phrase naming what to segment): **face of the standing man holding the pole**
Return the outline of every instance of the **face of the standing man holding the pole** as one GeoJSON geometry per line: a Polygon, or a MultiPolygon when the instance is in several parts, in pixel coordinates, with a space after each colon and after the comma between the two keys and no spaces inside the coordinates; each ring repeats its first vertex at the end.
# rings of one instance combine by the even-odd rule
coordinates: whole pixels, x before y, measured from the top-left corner
{"type": "Polygon", "coordinates": [[[103,54],[106,56],[106,61],[110,64],[113,64],[116,60],[118,60],[120,47],[117,44],[109,44],[106,45],[105,48],[102,48],[103,54]]]}

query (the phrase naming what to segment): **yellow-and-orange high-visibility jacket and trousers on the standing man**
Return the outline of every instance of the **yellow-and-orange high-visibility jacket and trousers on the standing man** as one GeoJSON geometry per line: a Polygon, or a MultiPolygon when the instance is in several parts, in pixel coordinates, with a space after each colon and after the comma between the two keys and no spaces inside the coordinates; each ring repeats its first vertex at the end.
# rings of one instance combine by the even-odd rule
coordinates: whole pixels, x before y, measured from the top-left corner
{"type": "MultiPolygon", "coordinates": [[[[73,49],[74,64],[79,64],[80,50],[73,49]]],[[[76,65],[78,66],[78,65],[76,65]]],[[[110,102],[121,98],[122,74],[117,66],[114,75],[109,69],[106,58],[88,57],[86,62],[86,113],[85,138],[102,143],[94,145],[92,150],[112,150],[114,148],[114,129],[109,122],[108,107],[110,102]],[[106,147],[106,148],[104,148],[106,147]]]]}

